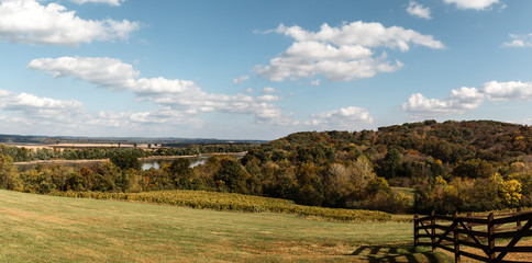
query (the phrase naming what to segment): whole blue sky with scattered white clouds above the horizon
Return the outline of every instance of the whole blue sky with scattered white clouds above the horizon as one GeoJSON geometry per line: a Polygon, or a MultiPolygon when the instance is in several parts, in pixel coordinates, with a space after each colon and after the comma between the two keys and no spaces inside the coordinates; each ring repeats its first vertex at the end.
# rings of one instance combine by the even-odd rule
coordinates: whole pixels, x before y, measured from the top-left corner
{"type": "Polygon", "coordinates": [[[0,134],[532,124],[530,0],[0,0],[0,134]]]}

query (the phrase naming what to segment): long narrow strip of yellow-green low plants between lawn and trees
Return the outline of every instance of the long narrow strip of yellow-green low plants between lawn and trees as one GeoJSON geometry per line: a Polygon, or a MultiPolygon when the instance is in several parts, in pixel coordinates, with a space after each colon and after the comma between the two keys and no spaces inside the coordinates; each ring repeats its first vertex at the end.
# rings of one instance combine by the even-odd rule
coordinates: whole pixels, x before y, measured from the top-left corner
{"type": "Polygon", "coordinates": [[[279,198],[251,196],[236,193],[219,193],[206,191],[151,191],[142,193],[101,193],[101,192],[58,192],[55,196],[119,199],[147,202],[155,204],[187,206],[214,210],[235,210],[251,213],[284,213],[303,217],[323,218],[340,221],[389,221],[391,216],[384,211],[326,208],[296,205],[293,202],[279,198]]]}

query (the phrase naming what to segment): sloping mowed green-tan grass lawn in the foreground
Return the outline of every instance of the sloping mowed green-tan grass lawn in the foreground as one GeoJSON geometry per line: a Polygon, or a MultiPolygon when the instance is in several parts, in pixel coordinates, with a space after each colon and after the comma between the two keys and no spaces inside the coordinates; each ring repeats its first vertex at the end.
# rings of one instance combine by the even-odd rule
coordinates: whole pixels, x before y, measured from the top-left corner
{"type": "Polygon", "coordinates": [[[411,222],[331,222],[0,191],[1,262],[452,262],[411,222]]]}

